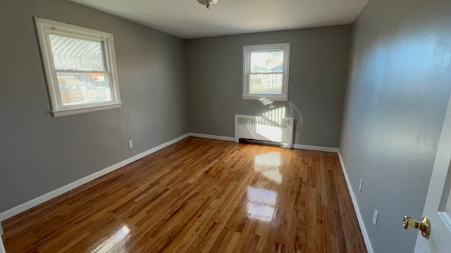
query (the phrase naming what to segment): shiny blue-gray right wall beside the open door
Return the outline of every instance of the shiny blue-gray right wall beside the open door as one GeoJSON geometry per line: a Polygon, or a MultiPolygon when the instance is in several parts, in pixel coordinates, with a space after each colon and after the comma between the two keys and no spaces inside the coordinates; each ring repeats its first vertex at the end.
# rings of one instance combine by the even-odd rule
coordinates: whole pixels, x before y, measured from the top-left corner
{"type": "Polygon", "coordinates": [[[414,249],[401,221],[421,218],[431,178],[451,91],[450,13],[450,1],[371,0],[354,25],[340,152],[375,252],[414,249]]]}

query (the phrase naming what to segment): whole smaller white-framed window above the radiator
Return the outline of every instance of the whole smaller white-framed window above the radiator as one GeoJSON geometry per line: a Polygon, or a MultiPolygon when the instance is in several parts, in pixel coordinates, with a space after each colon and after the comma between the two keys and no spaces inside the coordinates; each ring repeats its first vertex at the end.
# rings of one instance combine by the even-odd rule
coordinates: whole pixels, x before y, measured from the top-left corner
{"type": "Polygon", "coordinates": [[[290,43],[243,47],[243,99],[288,100],[290,43]]]}

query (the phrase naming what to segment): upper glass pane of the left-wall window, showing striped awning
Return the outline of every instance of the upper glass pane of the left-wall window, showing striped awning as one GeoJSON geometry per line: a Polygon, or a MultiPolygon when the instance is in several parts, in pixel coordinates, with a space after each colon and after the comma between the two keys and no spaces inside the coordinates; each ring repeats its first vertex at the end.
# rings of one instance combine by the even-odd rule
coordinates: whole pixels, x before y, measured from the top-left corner
{"type": "Polygon", "coordinates": [[[104,71],[101,42],[49,34],[56,70],[104,71]]]}

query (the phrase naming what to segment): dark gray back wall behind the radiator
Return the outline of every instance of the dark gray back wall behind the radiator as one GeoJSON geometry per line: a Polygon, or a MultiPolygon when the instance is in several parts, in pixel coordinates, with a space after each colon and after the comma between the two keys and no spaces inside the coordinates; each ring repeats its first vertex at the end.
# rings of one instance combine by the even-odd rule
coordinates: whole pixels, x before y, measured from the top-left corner
{"type": "Polygon", "coordinates": [[[350,25],[187,40],[190,131],[235,136],[234,115],[270,110],[243,100],[242,46],[291,43],[287,117],[295,143],[338,147],[350,48],[350,25]]]}

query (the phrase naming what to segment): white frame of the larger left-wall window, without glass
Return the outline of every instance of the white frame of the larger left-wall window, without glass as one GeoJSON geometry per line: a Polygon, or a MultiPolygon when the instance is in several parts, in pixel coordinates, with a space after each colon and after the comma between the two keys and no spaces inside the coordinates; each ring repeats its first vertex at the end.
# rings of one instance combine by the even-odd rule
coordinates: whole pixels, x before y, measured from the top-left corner
{"type": "MultiPolygon", "coordinates": [[[[35,17],[37,34],[39,37],[39,46],[41,48],[42,61],[47,79],[47,87],[51,100],[51,114],[54,117],[66,115],[74,115],[83,112],[94,112],[98,110],[107,110],[113,108],[121,108],[121,95],[119,93],[118,74],[116,70],[116,57],[114,55],[113,34],[99,32],[85,27],[68,25],[62,22],[47,20],[35,17]],[[80,105],[63,105],[61,93],[58,86],[57,70],[55,69],[54,58],[51,52],[49,34],[62,35],[65,37],[73,37],[76,39],[87,39],[90,41],[101,42],[105,71],[99,73],[108,75],[110,82],[111,101],[85,103],[80,105]]],[[[69,71],[64,71],[69,72],[69,71]]],[[[80,71],[94,73],[96,71],[80,71]]]]}

